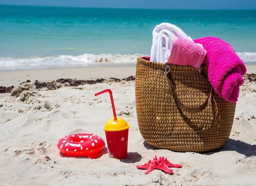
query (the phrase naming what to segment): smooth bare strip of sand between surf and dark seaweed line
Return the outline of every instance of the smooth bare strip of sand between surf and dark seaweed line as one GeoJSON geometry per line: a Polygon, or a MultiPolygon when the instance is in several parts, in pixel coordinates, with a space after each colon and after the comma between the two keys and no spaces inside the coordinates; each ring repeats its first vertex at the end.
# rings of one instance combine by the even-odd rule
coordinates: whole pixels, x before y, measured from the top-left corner
{"type": "MultiPolygon", "coordinates": [[[[256,65],[247,65],[246,74],[256,73],[256,65]]],[[[95,80],[97,78],[127,78],[135,76],[136,63],[99,63],[88,64],[83,68],[63,69],[36,69],[18,71],[0,71],[0,86],[17,86],[20,83],[30,80],[49,82],[60,78],[76,80],[95,80]]]]}

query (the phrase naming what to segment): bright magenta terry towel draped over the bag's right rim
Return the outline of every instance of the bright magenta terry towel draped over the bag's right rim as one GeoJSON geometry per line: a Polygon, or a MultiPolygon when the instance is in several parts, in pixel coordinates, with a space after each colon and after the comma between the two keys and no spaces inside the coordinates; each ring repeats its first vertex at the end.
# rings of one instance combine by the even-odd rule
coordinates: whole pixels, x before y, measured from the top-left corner
{"type": "Polygon", "coordinates": [[[208,77],[213,89],[223,99],[236,102],[246,72],[243,61],[231,45],[220,38],[198,38],[194,42],[202,44],[207,51],[204,61],[208,67],[208,77]]]}

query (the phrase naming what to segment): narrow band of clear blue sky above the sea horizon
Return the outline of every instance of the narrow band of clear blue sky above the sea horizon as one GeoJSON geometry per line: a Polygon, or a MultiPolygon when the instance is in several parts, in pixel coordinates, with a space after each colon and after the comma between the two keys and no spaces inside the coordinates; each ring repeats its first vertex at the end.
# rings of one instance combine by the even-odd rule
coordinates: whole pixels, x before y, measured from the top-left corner
{"type": "Polygon", "coordinates": [[[256,9],[256,0],[0,0],[0,4],[146,9],[256,9]]]}

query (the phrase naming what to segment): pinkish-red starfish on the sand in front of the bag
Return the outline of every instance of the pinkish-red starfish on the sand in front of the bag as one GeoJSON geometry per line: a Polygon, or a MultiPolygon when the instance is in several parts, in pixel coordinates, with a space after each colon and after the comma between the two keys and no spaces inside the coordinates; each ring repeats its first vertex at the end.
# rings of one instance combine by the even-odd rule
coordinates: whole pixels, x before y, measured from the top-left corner
{"type": "Polygon", "coordinates": [[[144,165],[137,165],[136,166],[139,169],[147,169],[144,173],[148,174],[150,172],[152,172],[155,169],[159,169],[159,170],[163,170],[164,172],[168,173],[168,174],[172,174],[173,173],[173,169],[171,169],[170,167],[175,167],[175,168],[181,168],[182,165],[180,164],[171,164],[170,161],[167,160],[167,158],[164,157],[159,157],[157,159],[157,155],[155,155],[153,160],[149,160],[148,163],[144,164],[144,165]]]}

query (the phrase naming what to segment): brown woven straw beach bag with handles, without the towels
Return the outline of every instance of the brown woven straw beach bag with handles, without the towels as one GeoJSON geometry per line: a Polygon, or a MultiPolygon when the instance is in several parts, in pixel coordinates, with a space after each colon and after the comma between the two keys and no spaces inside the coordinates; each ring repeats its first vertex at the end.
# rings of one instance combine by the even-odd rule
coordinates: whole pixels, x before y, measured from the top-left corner
{"type": "Polygon", "coordinates": [[[173,151],[221,148],[229,139],[236,103],[220,98],[189,66],[137,58],[135,97],[139,131],[151,146],[173,151]]]}

